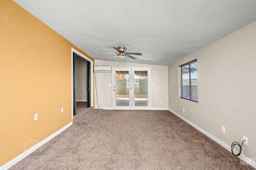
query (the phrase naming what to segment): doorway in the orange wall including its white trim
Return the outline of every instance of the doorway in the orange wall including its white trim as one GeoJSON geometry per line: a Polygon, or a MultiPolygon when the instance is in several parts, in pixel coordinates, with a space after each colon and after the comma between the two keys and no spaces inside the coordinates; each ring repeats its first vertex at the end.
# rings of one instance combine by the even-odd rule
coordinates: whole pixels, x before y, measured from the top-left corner
{"type": "Polygon", "coordinates": [[[72,118],[76,115],[76,106],[88,108],[93,106],[93,62],[72,49],[72,118]]]}

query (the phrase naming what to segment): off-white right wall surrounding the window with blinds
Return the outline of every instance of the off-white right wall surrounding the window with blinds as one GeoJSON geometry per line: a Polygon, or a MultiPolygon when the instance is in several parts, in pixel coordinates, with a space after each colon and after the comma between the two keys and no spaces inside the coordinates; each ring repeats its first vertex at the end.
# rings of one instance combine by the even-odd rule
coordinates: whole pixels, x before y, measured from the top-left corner
{"type": "Polygon", "coordinates": [[[248,137],[242,154],[256,159],[255,63],[256,21],[168,67],[169,109],[229,146],[248,137]],[[178,66],[194,59],[198,103],[179,97],[178,66]]]}

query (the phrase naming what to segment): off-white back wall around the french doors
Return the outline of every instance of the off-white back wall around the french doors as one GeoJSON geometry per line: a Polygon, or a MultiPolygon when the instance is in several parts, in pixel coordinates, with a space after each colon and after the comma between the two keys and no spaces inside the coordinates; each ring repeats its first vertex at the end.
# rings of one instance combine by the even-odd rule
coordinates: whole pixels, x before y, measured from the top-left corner
{"type": "MultiPolygon", "coordinates": [[[[121,59],[120,59],[121,60],[121,59]]],[[[95,66],[112,67],[151,67],[151,99],[152,109],[168,109],[168,66],[150,64],[124,63],[115,61],[94,60],[95,66]],[[162,102],[162,105],[160,104],[162,102]]],[[[98,104],[100,108],[112,108],[112,73],[96,73],[96,86],[98,93],[98,104]]],[[[95,107],[98,108],[95,90],[95,107]]]]}

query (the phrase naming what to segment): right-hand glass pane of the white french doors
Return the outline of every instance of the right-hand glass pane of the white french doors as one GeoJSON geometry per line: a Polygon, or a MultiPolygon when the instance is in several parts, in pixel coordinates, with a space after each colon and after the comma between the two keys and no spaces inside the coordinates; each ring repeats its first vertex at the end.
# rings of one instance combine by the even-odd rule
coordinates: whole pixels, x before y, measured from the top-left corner
{"type": "Polygon", "coordinates": [[[134,106],[148,106],[148,71],[134,71],[134,106]]]}

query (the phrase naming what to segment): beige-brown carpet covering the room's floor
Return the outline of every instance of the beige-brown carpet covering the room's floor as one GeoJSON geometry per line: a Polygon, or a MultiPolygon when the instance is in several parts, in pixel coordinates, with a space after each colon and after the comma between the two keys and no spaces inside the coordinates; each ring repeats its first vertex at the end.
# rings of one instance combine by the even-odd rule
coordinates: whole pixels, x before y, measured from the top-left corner
{"type": "Polygon", "coordinates": [[[74,125],[10,170],[254,169],[170,111],[77,108],[74,125]]]}

